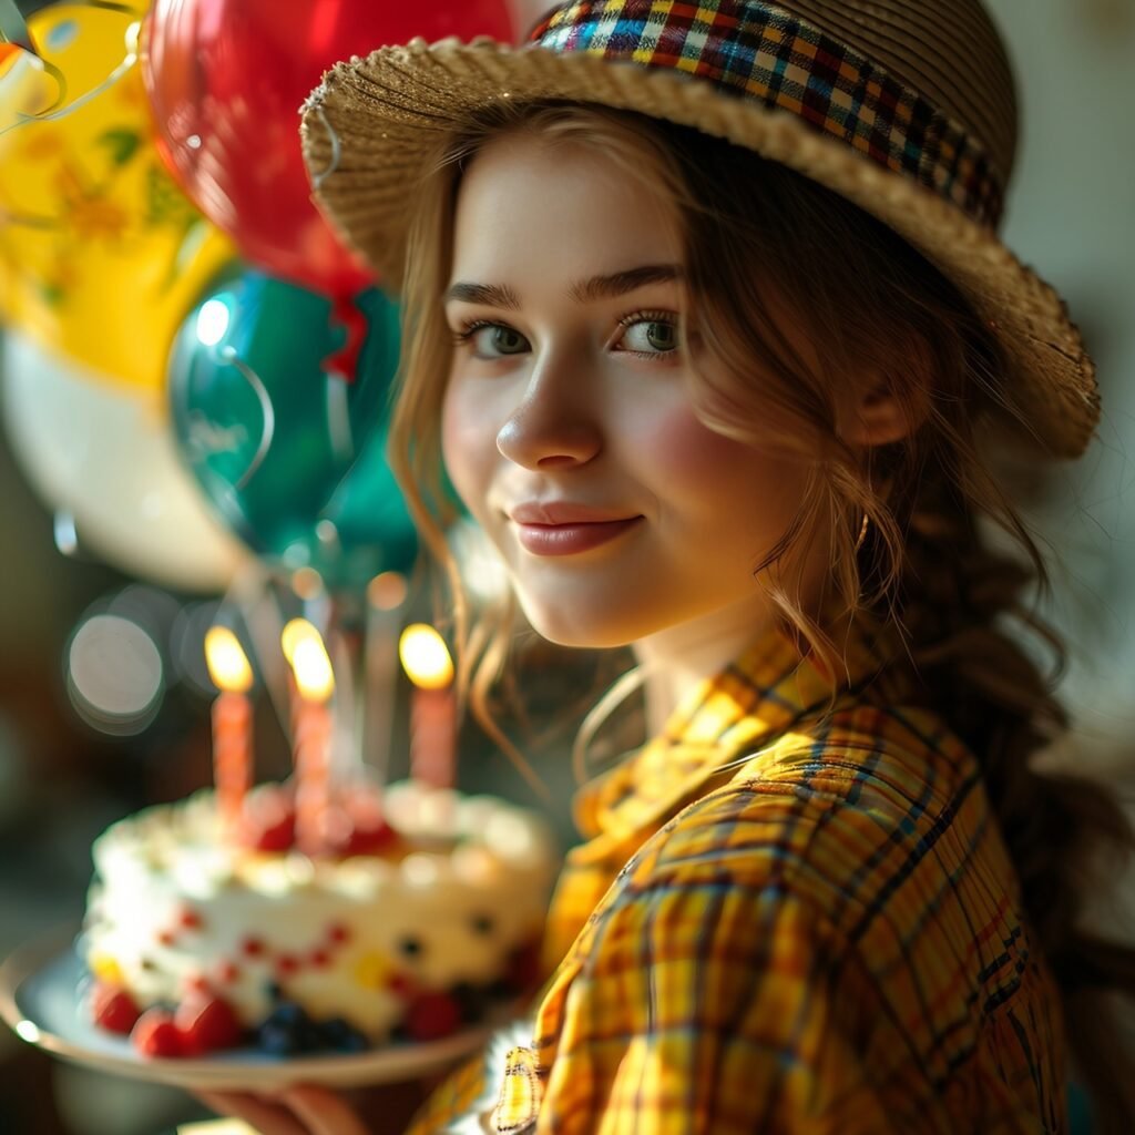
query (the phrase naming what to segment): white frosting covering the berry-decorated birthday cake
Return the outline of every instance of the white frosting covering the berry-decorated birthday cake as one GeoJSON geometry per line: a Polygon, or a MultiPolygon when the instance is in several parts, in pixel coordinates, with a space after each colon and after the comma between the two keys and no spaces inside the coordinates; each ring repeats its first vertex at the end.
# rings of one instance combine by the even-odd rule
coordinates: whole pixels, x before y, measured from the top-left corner
{"type": "Polygon", "coordinates": [[[250,1026],[278,982],[313,1017],[345,1017],[373,1040],[404,1014],[396,974],[437,990],[502,977],[543,924],[558,861],[545,824],[491,797],[412,782],[389,785],[384,808],[414,846],[401,861],[226,846],[211,791],[114,824],[93,848],[92,970],[142,1006],[177,1003],[203,977],[250,1026]]]}

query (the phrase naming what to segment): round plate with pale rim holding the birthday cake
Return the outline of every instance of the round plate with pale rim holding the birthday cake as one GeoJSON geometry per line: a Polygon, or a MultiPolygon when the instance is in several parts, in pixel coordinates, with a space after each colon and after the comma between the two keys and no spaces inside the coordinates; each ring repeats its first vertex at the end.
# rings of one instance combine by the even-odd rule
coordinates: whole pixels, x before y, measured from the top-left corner
{"type": "Polygon", "coordinates": [[[351,1054],[288,1059],[250,1048],[195,1060],[144,1057],[128,1037],[87,1019],[78,997],[86,967],[75,953],[74,938],[74,933],[56,934],[8,958],[0,967],[0,1017],[28,1043],[72,1063],[176,1087],[264,1091],[300,1083],[359,1087],[417,1079],[474,1052],[508,1016],[440,1041],[351,1054]]]}

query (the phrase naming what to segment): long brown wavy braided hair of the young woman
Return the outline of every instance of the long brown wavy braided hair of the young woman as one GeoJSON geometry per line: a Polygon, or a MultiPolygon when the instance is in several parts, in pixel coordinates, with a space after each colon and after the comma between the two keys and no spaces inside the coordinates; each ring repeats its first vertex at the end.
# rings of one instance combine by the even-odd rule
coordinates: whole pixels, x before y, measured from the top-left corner
{"type": "Polygon", "coordinates": [[[1135,994],[1135,950],[1085,930],[1085,900],[1101,864],[1125,858],[1135,833],[1113,796],[1031,760],[1067,728],[1065,711],[1019,634],[1057,637],[1027,600],[1046,585],[1042,555],[978,439],[1008,412],[1007,365],[958,289],[909,244],[843,197],[758,154],[696,131],[599,107],[486,109],[438,153],[418,188],[407,254],[404,380],[392,463],[454,595],[459,673],[474,716],[530,770],[497,728],[489,690],[501,678],[514,612],[470,620],[444,538],[452,507],[440,484],[439,406],[452,351],[440,296],[462,170],[489,140],[523,131],[548,145],[597,148],[625,174],[674,202],[689,302],[724,380],[705,376],[697,409],[733,438],[760,444],[771,423],[817,455],[797,521],[757,565],[768,589],[831,672],[839,649],[799,602],[790,555],[824,532],[831,587],[849,609],[894,620],[927,699],[972,747],[1023,889],[1027,917],[1061,990],[1073,1059],[1100,1132],[1128,1132],[1135,1077],[1113,994],[1135,994]],[[792,350],[782,313],[810,330],[818,362],[792,350]],[[759,381],[753,360],[760,360],[759,381]],[[852,373],[881,376],[911,423],[865,462],[835,428],[835,396],[852,373]],[[991,531],[1009,537],[991,539],[991,531]]]}

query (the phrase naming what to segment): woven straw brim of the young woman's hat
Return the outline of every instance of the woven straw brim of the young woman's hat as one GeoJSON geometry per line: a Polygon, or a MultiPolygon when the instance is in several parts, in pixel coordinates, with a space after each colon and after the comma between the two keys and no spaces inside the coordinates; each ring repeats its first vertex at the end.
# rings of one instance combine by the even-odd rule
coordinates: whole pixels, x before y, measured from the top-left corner
{"type": "Polygon", "coordinates": [[[381,48],[337,64],[304,107],[314,195],[347,244],[402,285],[415,186],[442,141],[499,99],[570,100],[693,126],[782,162],[884,221],[934,263],[994,330],[1010,363],[1010,432],[1052,457],[1083,453],[1099,420],[1095,368],[1057,292],[997,234],[909,177],[802,120],[683,75],[491,40],[381,48]]]}

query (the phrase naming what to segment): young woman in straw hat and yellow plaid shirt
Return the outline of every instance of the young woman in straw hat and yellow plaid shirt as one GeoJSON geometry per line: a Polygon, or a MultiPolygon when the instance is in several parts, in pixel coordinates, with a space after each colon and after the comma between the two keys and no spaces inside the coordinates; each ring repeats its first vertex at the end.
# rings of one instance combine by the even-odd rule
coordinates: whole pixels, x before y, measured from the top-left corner
{"type": "MultiPolygon", "coordinates": [[[[653,734],[578,801],[533,1018],[415,1135],[1061,1132],[1069,1056],[1130,1129],[1133,955],[1077,925],[1130,836],[1029,768],[1063,714],[1006,617],[1042,565],[984,457],[1077,455],[1095,384],[995,235],[976,0],[564,3],[523,50],[340,65],[304,129],[404,297],[423,531],[444,557],[444,459],[540,634],[632,645],[653,734]]],[[[474,706],[512,625],[462,632],[474,706]]]]}

